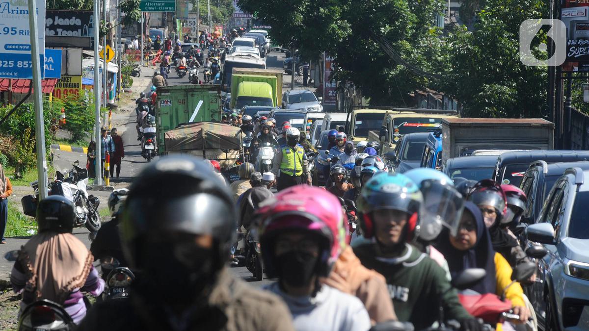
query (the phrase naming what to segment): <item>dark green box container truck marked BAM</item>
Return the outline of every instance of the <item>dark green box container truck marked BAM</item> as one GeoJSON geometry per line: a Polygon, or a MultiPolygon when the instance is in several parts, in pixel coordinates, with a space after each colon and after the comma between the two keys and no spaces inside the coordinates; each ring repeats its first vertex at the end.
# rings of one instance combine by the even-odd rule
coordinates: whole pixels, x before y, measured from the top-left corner
{"type": "Polygon", "coordinates": [[[220,85],[176,85],[157,88],[155,127],[160,155],[166,154],[165,134],[178,124],[221,121],[220,85]]]}

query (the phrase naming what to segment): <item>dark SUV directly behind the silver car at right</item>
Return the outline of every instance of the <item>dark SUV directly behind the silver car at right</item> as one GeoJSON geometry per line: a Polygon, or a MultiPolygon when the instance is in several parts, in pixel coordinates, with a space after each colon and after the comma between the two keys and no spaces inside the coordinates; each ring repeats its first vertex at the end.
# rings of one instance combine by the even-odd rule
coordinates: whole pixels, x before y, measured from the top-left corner
{"type": "Polygon", "coordinates": [[[535,223],[540,209],[552,186],[568,168],[578,167],[589,170],[589,161],[559,162],[548,164],[546,161],[535,161],[525,171],[519,186],[528,198],[524,217],[529,223],[535,223]]]}

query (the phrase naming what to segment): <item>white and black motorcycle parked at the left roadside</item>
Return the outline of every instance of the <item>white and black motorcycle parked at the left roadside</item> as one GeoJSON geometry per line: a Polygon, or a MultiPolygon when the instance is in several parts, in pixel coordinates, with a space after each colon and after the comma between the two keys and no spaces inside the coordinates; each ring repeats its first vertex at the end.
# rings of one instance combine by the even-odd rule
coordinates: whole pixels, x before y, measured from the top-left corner
{"type": "MultiPolygon", "coordinates": [[[[92,195],[88,196],[86,187],[88,184],[88,170],[78,167],[80,161],[75,161],[72,168],[67,173],[62,174],[57,171],[55,181],[51,183],[48,195],[59,195],[68,198],[75,206],[76,224],[75,227],[86,226],[90,232],[96,232],[102,226],[98,206],[100,200],[92,195]]],[[[35,217],[37,215],[37,201],[39,199],[39,182],[34,181],[31,187],[35,194],[29,194],[21,199],[24,214],[35,217]]]]}

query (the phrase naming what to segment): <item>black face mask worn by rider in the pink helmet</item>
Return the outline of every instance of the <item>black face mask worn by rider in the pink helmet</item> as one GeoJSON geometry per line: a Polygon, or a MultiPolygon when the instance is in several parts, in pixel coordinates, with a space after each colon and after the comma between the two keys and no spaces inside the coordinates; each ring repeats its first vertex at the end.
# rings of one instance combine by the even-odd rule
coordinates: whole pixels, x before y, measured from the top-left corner
{"type": "Polygon", "coordinates": [[[319,257],[302,251],[289,251],[278,257],[277,271],[283,282],[293,287],[309,285],[319,257]]]}

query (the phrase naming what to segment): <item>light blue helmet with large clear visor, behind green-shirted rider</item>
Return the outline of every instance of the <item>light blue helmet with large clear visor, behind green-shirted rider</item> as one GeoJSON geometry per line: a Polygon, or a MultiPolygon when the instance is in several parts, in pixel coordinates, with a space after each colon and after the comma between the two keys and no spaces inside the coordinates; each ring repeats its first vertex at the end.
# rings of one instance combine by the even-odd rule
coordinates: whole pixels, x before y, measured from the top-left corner
{"type": "Polygon", "coordinates": [[[450,177],[431,168],[414,168],[404,175],[417,184],[423,196],[419,238],[435,240],[443,227],[448,228],[452,236],[458,235],[465,201],[450,177]]]}

